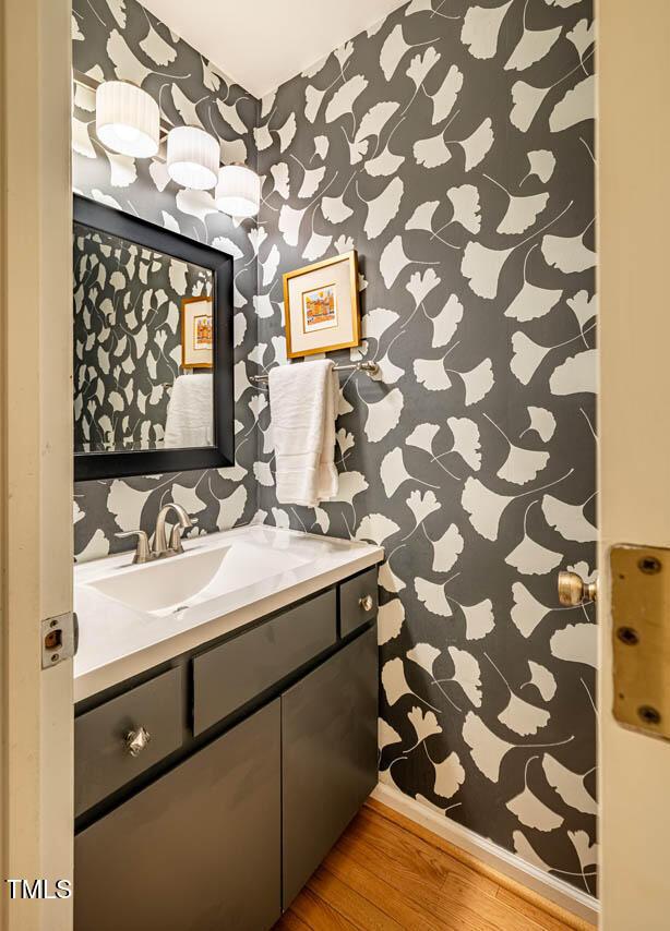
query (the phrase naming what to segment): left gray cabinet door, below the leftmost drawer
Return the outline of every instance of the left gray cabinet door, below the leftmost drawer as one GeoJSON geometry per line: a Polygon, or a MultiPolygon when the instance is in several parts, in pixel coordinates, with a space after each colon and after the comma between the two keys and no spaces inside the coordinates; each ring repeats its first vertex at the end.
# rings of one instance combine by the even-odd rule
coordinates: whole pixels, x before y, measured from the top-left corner
{"type": "Polygon", "coordinates": [[[82,831],[75,931],[262,931],[280,915],[279,700],[82,831]]]}

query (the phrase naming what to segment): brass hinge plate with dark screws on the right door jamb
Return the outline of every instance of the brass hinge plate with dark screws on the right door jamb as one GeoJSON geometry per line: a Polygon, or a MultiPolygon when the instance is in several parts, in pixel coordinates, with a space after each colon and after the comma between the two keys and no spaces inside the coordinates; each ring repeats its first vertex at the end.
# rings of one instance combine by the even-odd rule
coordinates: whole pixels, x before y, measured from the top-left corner
{"type": "Polygon", "coordinates": [[[613,546],[614,717],[670,739],[670,549],[613,546]]]}

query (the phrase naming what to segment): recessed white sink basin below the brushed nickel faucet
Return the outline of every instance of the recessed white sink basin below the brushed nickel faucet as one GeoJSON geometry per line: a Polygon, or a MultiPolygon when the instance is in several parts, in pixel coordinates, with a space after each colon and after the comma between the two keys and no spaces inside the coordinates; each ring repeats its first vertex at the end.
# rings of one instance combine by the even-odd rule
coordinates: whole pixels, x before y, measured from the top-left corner
{"type": "Polygon", "coordinates": [[[133,610],[161,616],[246,588],[307,561],[249,543],[216,548],[195,545],[180,556],[117,569],[87,585],[133,610]]]}

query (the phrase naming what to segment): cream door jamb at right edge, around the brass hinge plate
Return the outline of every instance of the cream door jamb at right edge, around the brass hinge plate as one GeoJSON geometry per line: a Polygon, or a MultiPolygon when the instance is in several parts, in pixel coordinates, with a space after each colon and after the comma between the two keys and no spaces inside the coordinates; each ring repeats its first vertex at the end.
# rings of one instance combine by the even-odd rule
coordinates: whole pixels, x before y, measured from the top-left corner
{"type": "Polygon", "coordinates": [[[621,543],[670,546],[670,4],[597,5],[599,890],[607,931],[661,931],[668,928],[670,742],[626,728],[612,714],[609,557],[621,543]]]}

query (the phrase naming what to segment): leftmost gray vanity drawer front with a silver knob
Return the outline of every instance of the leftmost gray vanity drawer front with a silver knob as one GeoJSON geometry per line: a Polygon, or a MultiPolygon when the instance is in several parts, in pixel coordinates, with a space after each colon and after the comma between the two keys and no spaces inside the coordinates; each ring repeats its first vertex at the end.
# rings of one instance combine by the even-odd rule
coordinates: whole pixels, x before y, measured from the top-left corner
{"type": "Polygon", "coordinates": [[[139,776],[183,738],[184,699],[180,669],[169,669],[74,721],[74,813],[139,776]],[[149,741],[136,755],[127,736],[143,727],[149,741]]]}

